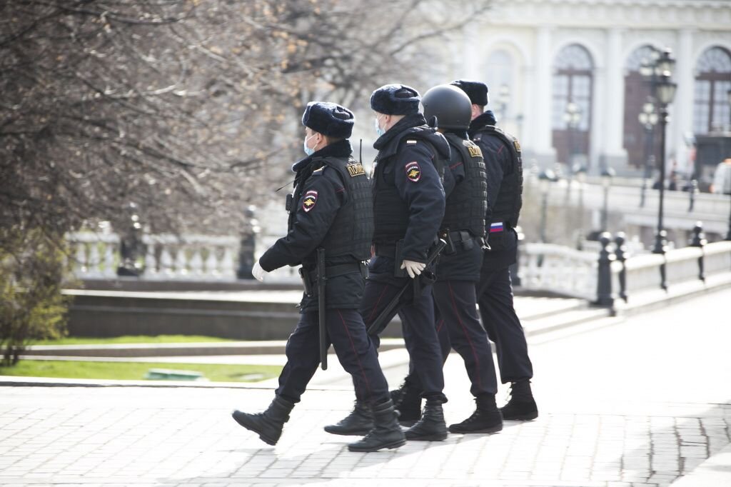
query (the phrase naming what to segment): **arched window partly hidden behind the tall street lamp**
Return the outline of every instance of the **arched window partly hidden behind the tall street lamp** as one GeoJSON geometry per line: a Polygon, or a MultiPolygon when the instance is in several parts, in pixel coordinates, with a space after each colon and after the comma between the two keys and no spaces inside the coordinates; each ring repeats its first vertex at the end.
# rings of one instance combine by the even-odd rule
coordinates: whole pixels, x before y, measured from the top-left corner
{"type": "Polygon", "coordinates": [[[659,54],[651,45],[643,45],[632,51],[624,66],[624,148],[629,164],[638,168],[645,167],[660,148],[654,127],[645,127],[638,118],[645,104],[652,101],[650,83],[640,75],[640,67],[653,63],[659,54]]]}

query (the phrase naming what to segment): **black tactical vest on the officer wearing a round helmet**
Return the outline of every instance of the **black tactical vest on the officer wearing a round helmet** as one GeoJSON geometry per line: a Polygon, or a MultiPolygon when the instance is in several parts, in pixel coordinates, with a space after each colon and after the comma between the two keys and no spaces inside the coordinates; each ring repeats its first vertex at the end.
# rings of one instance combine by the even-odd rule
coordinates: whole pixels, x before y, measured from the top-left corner
{"type": "Polygon", "coordinates": [[[458,135],[445,133],[450,143],[450,164],[462,163],[464,180],[447,197],[442,230],[469,230],[478,238],[485,236],[485,213],[488,211],[488,176],[482,151],[476,143],[458,135]]]}

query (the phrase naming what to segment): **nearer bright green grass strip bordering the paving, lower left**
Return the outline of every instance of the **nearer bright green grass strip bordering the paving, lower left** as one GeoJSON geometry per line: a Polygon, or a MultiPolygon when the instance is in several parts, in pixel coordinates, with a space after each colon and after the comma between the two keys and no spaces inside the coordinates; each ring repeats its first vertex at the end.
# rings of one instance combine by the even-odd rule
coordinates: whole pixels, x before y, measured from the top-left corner
{"type": "Polygon", "coordinates": [[[201,372],[214,382],[257,382],[279,376],[280,366],[227,365],[215,363],[85,362],[76,360],[20,360],[1,367],[0,375],[57,377],[64,379],[143,380],[148,369],[201,372]],[[260,377],[244,377],[257,374],[260,377]]]}

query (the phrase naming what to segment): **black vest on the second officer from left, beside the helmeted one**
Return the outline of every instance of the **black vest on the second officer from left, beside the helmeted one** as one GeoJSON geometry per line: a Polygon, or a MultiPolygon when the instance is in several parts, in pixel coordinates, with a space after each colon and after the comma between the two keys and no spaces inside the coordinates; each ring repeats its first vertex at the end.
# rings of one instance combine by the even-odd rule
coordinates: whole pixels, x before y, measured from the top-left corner
{"type": "Polygon", "coordinates": [[[406,229],[409,227],[409,205],[401,199],[398,194],[395,181],[395,170],[386,173],[387,165],[392,164],[393,160],[401,152],[401,147],[406,140],[420,140],[425,143],[433,156],[434,166],[436,167],[439,178],[444,179],[444,161],[439,156],[438,151],[431,143],[419,132],[406,135],[398,143],[398,150],[386,159],[379,159],[376,156],[374,164],[376,170],[373,176],[373,195],[374,195],[374,217],[375,231],[373,236],[374,243],[390,244],[401,240],[406,236],[406,229]]]}

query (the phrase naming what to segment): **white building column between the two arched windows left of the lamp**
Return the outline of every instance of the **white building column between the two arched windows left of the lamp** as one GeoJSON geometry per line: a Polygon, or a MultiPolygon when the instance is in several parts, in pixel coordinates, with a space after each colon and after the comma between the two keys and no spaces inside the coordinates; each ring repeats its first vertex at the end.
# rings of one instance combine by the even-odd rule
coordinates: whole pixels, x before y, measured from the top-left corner
{"type": "MultiPolygon", "coordinates": [[[[617,173],[626,173],[627,154],[624,149],[624,58],[622,58],[622,29],[607,31],[607,65],[603,70],[605,91],[596,92],[603,99],[605,118],[594,118],[592,127],[596,132],[604,132],[599,166],[613,167],[617,173]]],[[[598,135],[601,137],[602,135],[598,135]]]]}

